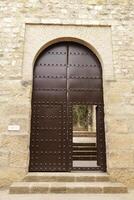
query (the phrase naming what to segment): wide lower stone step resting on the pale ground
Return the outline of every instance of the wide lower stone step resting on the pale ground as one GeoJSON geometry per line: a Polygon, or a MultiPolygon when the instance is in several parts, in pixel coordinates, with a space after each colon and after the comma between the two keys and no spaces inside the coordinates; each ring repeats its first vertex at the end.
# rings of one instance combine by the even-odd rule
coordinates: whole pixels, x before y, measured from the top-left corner
{"type": "Polygon", "coordinates": [[[29,193],[126,193],[120,183],[110,182],[16,182],[10,194],[29,193]]]}

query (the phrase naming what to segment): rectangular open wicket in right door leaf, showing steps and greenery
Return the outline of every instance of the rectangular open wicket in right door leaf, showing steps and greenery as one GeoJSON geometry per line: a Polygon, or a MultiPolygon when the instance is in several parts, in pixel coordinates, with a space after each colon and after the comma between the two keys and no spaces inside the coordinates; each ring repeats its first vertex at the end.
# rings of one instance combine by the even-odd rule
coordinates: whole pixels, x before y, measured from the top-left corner
{"type": "Polygon", "coordinates": [[[73,169],[98,167],[96,105],[73,106],[73,169]]]}

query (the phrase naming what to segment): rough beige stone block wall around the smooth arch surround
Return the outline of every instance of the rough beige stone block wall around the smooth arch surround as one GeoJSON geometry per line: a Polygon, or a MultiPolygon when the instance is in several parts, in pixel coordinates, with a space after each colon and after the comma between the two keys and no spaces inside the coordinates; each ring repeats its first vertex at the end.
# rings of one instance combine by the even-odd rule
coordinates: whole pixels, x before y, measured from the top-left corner
{"type": "Polygon", "coordinates": [[[111,27],[114,79],[105,83],[104,97],[108,173],[134,186],[133,0],[0,0],[0,184],[28,170],[32,84],[23,80],[23,58],[31,23],[111,27]],[[20,131],[8,131],[11,124],[20,131]]]}

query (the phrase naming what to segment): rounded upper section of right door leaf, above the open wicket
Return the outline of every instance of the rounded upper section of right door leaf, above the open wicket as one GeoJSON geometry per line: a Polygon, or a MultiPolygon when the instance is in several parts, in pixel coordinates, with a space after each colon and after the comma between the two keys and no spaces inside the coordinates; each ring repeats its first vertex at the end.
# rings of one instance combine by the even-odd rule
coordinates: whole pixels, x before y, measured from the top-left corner
{"type": "Polygon", "coordinates": [[[102,90],[98,90],[102,88],[102,81],[96,88],[98,79],[102,77],[101,67],[96,57],[87,48],[77,44],[69,45],[68,54],[68,65],[71,65],[69,67],[69,100],[75,103],[85,101],[89,104],[102,101],[102,90]],[[83,68],[83,66],[86,67],[83,68]]]}

